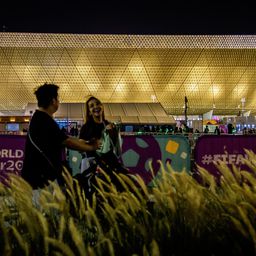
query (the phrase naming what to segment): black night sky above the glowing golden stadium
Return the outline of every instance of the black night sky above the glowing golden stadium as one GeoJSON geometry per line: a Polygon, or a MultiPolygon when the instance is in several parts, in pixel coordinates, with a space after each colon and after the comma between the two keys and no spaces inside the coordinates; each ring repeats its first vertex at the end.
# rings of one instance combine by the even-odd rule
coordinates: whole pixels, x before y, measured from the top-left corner
{"type": "Polygon", "coordinates": [[[186,2],[6,0],[1,3],[0,28],[79,34],[256,34],[256,11],[250,5],[186,2]]]}

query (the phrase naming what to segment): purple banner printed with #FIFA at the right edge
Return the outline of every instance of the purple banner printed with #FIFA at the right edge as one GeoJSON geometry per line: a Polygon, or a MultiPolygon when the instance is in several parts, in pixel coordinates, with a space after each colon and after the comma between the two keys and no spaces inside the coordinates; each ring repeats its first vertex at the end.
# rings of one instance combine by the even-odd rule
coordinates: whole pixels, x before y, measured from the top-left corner
{"type": "Polygon", "coordinates": [[[244,159],[248,158],[244,149],[256,152],[255,145],[255,135],[203,135],[199,137],[195,146],[195,163],[216,177],[220,176],[214,165],[218,160],[223,161],[230,168],[233,164],[250,171],[244,164],[244,159]]]}

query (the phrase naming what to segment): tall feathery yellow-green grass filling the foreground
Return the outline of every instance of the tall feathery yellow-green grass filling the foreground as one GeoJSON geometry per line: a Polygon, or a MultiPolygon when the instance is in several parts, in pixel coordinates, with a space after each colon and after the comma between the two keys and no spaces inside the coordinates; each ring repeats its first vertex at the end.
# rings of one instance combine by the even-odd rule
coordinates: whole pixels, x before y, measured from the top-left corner
{"type": "Polygon", "coordinates": [[[255,255],[256,156],[247,154],[251,172],[220,162],[218,185],[202,168],[199,184],[168,165],[151,188],[119,175],[118,192],[99,179],[91,204],[68,173],[66,190],[52,183],[36,206],[11,176],[0,187],[0,255],[255,255]]]}

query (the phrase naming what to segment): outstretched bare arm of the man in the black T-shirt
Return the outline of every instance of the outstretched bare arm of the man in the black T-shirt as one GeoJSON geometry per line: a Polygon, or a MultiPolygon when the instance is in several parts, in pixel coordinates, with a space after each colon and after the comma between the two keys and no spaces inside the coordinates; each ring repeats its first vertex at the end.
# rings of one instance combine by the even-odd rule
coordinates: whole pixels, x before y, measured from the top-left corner
{"type": "Polygon", "coordinates": [[[85,140],[68,137],[63,141],[63,145],[67,148],[78,151],[95,151],[101,146],[101,142],[99,140],[95,140],[92,144],[88,144],[85,140]]]}

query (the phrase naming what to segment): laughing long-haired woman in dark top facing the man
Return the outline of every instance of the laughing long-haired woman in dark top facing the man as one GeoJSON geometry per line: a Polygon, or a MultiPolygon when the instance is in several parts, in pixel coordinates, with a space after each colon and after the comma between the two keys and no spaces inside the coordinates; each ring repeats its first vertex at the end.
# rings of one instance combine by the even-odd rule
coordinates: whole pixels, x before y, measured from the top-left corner
{"type": "Polygon", "coordinates": [[[88,168],[86,164],[88,176],[95,171],[93,166],[99,166],[117,185],[113,171],[125,174],[129,172],[119,161],[121,156],[119,129],[114,123],[105,119],[103,104],[94,96],[90,96],[85,103],[85,123],[81,127],[79,138],[88,143],[93,143],[98,139],[102,140],[100,149],[88,152],[86,155],[87,159],[92,160],[89,161],[91,168],[88,168]]]}

